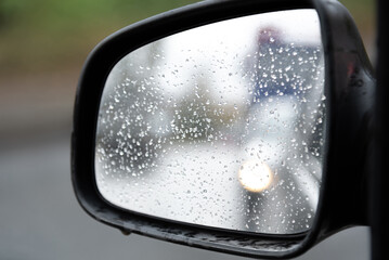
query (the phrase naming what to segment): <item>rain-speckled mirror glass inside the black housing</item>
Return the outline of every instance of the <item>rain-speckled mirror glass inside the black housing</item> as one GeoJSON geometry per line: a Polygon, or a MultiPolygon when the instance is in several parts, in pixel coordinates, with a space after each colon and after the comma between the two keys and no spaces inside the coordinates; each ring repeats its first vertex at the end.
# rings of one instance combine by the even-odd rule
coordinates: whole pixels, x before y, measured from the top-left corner
{"type": "Polygon", "coordinates": [[[111,72],[95,180],[111,204],[205,226],[296,234],[312,225],[325,140],[317,14],[205,25],[111,72]]]}

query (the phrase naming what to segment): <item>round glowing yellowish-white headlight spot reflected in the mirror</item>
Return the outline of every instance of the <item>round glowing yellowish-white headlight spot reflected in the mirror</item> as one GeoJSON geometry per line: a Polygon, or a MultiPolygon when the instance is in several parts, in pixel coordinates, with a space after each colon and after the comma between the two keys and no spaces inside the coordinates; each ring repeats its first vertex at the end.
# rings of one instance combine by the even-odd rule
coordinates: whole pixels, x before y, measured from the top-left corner
{"type": "Polygon", "coordinates": [[[265,162],[251,159],[243,162],[238,179],[244,188],[259,193],[270,186],[273,181],[273,172],[265,162]]]}

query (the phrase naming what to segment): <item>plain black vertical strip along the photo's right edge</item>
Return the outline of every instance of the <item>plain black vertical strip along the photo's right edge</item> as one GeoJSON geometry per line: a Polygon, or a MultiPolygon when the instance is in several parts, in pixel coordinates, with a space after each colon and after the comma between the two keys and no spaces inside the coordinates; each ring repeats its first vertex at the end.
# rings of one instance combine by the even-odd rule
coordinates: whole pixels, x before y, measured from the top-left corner
{"type": "Polygon", "coordinates": [[[389,31],[388,3],[377,0],[377,90],[375,94],[374,153],[371,174],[371,259],[389,259],[389,31]]]}

